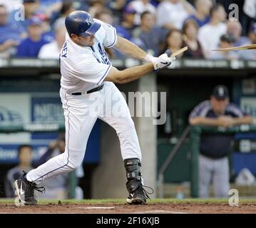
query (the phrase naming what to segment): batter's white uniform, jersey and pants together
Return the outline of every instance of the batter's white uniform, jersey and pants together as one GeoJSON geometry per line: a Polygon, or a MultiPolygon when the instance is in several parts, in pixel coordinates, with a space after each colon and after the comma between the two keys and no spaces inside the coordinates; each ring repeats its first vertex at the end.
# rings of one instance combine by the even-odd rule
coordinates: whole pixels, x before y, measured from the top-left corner
{"type": "Polygon", "coordinates": [[[104,81],[112,66],[103,46],[110,48],[116,44],[116,28],[96,21],[101,23],[101,28],[95,34],[93,46],[78,46],[66,34],[60,55],[60,95],[65,115],[66,149],[63,154],[51,158],[26,175],[27,180],[36,184],[81,165],[97,118],[116,130],[123,160],[138,158],[141,161],[138,136],[126,100],[113,83],[104,81]],[[101,90],[86,93],[101,85],[101,90]]]}

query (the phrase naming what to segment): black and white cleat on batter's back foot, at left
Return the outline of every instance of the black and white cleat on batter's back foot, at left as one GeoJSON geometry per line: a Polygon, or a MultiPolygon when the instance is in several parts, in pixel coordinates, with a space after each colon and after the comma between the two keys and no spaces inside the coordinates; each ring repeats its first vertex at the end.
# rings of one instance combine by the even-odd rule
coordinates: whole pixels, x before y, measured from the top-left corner
{"type": "Polygon", "coordinates": [[[34,198],[34,190],[39,192],[46,191],[44,187],[36,187],[36,183],[26,180],[26,172],[14,182],[14,188],[16,190],[16,195],[19,197],[19,201],[25,205],[37,204],[37,201],[34,198]]]}

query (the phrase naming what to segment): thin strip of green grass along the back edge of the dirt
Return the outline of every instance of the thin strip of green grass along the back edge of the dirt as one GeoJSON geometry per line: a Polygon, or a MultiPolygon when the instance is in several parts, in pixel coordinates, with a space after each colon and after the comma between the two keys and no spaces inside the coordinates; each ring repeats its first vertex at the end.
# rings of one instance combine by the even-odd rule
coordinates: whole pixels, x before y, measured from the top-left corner
{"type": "MultiPolygon", "coordinates": [[[[126,204],[126,199],[61,199],[63,204],[126,204]]],[[[148,204],[228,204],[228,199],[151,199],[148,204]]],[[[240,199],[240,204],[256,203],[256,199],[240,199]]],[[[14,199],[0,199],[0,204],[14,204],[14,199]]],[[[58,204],[58,199],[39,199],[39,204],[58,204]]]]}

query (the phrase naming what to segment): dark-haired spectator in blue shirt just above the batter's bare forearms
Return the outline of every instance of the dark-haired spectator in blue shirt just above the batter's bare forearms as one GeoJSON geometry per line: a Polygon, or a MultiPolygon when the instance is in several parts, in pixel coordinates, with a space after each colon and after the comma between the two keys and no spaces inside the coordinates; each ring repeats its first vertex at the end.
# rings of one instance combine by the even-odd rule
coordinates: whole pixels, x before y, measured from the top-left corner
{"type": "Polygon", "coordinates": [[[155,26],[155,15],[150,11],[143,12],[140,21],[140,26],[133,31],[134,43],[153,56],[158,56],[166,31],[155,26]]]}

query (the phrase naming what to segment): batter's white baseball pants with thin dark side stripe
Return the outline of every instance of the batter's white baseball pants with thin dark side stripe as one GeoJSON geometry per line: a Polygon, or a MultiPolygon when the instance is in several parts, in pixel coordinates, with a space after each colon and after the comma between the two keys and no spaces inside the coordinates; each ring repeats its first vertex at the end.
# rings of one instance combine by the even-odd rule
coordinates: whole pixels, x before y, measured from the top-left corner
{"type": "Polygon", "coordinates": [[[138,135],[128,105],[113,83],[105,82],[101,90],[83,95],[71,95],[61,88],[60,95],[65,115],[65,152],[31,170],[26,175],[27,180],[39,184],[43,180],[79,167],[83,162],[88,137],[97,118],[116,130],[123,160],[138,158],[141,161],[138,135]]]}

